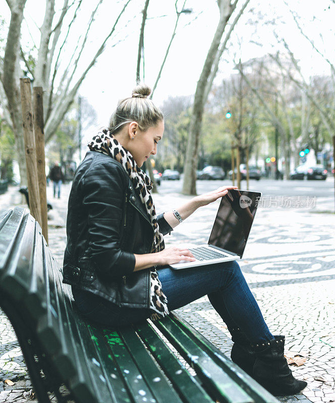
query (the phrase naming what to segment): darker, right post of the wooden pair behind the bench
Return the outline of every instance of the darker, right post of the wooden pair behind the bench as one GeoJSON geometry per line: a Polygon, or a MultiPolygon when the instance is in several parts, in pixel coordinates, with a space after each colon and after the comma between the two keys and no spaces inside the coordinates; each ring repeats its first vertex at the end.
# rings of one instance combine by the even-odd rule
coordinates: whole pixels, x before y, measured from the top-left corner
{"type": "Polygon", "coordinates": [[[41,203],[41,218],[42,218],[41,228],[46,243],[48,243],[42,87],[33,88],[33,107],[34,107],[34,131],[35,131],[35,145],[36,145],[37,179],[38,179],[39,199],[41,203]]]}

